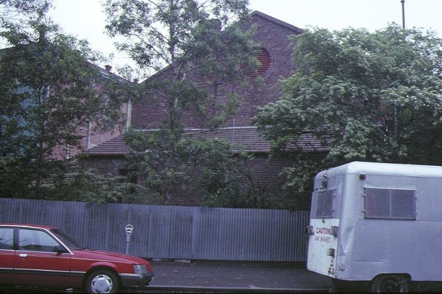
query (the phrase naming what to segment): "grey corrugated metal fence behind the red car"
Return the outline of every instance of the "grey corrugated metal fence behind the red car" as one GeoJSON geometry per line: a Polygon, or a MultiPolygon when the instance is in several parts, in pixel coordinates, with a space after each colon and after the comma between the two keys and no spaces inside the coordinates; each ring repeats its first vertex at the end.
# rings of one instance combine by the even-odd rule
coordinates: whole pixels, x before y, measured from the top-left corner
{"type": "Polygon", "coordinates": [[[0,222],[59,227],[84,246],[144,258],[305,262],[309,211],[0,198],[0,222]]]}

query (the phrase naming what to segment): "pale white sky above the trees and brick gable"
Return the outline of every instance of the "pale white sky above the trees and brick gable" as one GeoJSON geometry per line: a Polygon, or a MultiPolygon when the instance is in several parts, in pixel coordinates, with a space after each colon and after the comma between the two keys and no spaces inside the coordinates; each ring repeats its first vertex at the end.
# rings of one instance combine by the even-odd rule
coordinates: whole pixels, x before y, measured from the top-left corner
{"type": "MultiPolygon", "coordinates": [[[[117,53],[113,40],[104,34],[102,0],[54,0],[50,13],[64,32],[87,39],[90,48],[106,56],[117,53]]],[[[442,37],[442,0],[405,0],[405,28],[434,30],[442,37]]],[[[401,0],[249,0],[249,8],[285,21],[298,28],[329,30],[366,28],[369,32],[389,23],[402,25],[401,0]]],[[[113,66],[131,63],[124,54],[115,54],[113,66]]]]}

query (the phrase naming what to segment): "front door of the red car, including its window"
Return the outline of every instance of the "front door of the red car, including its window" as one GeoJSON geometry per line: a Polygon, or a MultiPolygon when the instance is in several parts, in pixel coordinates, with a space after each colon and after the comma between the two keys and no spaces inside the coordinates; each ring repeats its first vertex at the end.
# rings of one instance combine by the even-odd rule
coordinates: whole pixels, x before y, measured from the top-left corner
{"type": "Polygon", "coordinates": [[[42,229],[19,228],[15,251],[15,283],[70,285],[70,253],[42,229]]]}

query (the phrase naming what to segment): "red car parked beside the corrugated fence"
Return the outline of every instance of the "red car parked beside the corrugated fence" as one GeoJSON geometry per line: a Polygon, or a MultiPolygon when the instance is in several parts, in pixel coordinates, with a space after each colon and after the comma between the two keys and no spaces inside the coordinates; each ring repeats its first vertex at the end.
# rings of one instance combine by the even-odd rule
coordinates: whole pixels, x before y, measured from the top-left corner
{"type": "Polygon", "coordinates": [[[0,224],[0,284],[115,293],[146,287],[152,278],[142,258],[86,249],[54,227],[0,224]]]}

